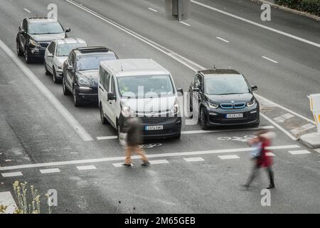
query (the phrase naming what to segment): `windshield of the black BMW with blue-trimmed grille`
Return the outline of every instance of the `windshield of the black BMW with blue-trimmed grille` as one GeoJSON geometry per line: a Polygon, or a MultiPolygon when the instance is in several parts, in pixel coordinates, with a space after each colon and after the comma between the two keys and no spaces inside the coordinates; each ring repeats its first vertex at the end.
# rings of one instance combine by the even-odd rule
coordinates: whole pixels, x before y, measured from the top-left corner
{"type": "Polygon", "coordinates": [[[204,87],[208,95],[250,93],[249,86],[241,75],[206,76],[204,87]]]}

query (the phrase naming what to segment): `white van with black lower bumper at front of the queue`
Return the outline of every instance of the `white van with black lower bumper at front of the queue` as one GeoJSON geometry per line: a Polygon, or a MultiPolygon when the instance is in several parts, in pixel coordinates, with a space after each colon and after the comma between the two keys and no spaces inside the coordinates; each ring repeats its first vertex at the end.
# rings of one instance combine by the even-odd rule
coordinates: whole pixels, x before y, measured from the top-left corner
{"type": "Polygon", "coordinates": [[[100,62],[99,108],[102,124],[122,131],[125,113],[141,118],[144,138],[180,138],[181,115],[174,80],[151,59],[100,62]]]}

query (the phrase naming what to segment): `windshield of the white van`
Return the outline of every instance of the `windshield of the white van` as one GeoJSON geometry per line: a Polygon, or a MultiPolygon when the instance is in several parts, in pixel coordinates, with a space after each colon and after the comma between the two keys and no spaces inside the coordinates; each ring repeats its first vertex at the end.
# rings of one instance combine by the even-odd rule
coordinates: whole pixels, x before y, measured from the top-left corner
{"type": "Polygon", "coordinates": [[[119,77],[120,94],[127,98],[154,98],[174,95],[169,75],[119,77]]]}

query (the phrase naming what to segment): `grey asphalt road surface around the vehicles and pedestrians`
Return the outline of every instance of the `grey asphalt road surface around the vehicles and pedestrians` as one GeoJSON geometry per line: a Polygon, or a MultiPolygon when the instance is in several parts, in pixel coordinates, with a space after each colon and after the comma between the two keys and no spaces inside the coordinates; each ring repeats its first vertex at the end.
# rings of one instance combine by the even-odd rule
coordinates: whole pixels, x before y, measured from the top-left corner
{"type": "MultiPolygon", "coordinates": [[[[14,180],[29,182],[42,194],[55,189],[58,191],[55,213],[130,213],[133,207],[138,213],[320,212],[319,154],[286,134],[306,120],[295,115],[294,123],[270,122],[287,113],[282,106],[311,118],[306,95],[319,93],[319,47],[196,3],[191,4],[191,18],[185,21],[188,26],[166,19],[164,1],[76,2],[126,29],[119,30],[68,1],[0,0],[0,21],[5,21],[0,24],[0,40],[9,47],[5,52],[0,45],[0,192],[13,193],[14,180]],[[31,70],[28,73],[23,67],[21,70],[21,63],[14,62],[15,55],[10,57],[10,50],[14,52],[16,48],[16,32],[22,19],[46,16],[50,3],[58,5],[58,19],[62,24],[72,28],[70,37],[83,38],[92,46],[108,46],[120,58],[153,58],[172,73],[178,88],[188,88],[195,74],[194,67],[231,66],[259,87],[259,95],[281,105],[271,105],[268,109],[268,103],[262,104],[266,118],[262,118],[261,126],[277,133],[272,150],[277,188],[272,190],[271,206],[260,204],[260,191],[267,186],[265,173],[250,191],[240,187],[251,169],[245,138],[254,135],[256,129],[228,128],[196,133],[194,130],[200,130],[198,125],[185,125],[181,140],[146,142],[146,146],[151,147],[146,148],[150,160],[160,164],[143,168],[135,159],[132,168],[116,167],[123,161],[123,151],[117,140],[97,139],[115,135],[110,126],[100,124],[97,107],[75,108],[72,98],[63,95],[61,85],[55,85],[50,76],[45,75],[43,63],[28,65],[31,70]],[[144,38],[132,36],[127,28],[144,38]],[[150,46],[146,38],[160,48],[150,46]],[[179,56],[172,58],[176,54],[179,56]],[[181,56],[193,63],[186,63],[181,56]],[[39,81],[48,88],[47,96],[36,87],[39,81]],[[53,105],[53,100],[48,99],[48,94],[78,121],[92,141],[79,137],[61,110],[53,105]],[[289,152],[300,150],[309,153],[289,152]],[[233,156],[219,157],[225,155],[233,156]],[[202,160],[184,160],[191,157],[202,160]],[[77,167],[83,165],[94,167],[78,170],[77,167]],[[50,174],[40,171],[51,168],[58,170],[50,174]],[[21,172],[23,176],[4,177],[3,174],[11,172],[21,172]],[[122,204],[116,210],[119,200],[122,204]]],[[[272,21],[263,22],[260,6],[252,1],[201,3],[320,43],[319,22],[311,19],[272,9],[272,21]]]]}

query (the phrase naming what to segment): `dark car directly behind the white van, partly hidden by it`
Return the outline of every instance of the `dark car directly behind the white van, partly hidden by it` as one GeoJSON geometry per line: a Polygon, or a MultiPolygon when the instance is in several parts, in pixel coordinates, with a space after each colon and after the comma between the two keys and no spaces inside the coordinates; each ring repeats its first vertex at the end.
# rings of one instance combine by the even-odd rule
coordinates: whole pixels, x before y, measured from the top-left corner
{"type": "Polygon", "coordinates": [[[98,104],[100,62],[114,59],[117,54],[103,46],[73,49],[63,63],[63,94],[72,94],[75,106],[98,104]]]}

